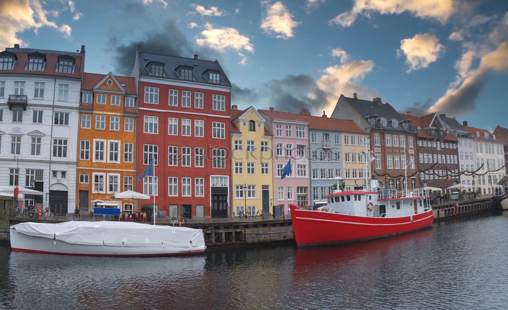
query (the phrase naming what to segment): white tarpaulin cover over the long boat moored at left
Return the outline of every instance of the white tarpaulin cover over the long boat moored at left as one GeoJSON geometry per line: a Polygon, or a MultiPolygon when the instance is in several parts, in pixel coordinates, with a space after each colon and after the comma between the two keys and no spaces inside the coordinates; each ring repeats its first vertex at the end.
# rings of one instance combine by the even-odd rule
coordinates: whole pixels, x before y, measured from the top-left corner
{"type": "Polygon", "coordinates": [[[30,236],[77,245],[158,248],[205,245],[202,229],[133,222],[70,221],[58,224],[26,222],[13,225],[11,229],[30,236]]]}

